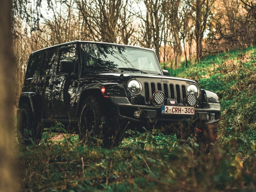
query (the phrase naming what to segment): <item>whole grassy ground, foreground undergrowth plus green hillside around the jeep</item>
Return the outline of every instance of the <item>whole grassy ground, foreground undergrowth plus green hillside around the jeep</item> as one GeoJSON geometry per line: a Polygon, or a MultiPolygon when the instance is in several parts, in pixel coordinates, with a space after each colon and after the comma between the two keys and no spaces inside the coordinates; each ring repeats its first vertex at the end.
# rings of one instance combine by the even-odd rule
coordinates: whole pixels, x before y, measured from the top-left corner
{"type": "Polygon", "coordinates": [[[193,139],[178,145],[175,136],[156,131],[110,150],[46,132],[39,146],[18,146],[20,191],[255,191],[256,48],[169,71],[220,97],[218,142],[210,154],[193,139]]]}

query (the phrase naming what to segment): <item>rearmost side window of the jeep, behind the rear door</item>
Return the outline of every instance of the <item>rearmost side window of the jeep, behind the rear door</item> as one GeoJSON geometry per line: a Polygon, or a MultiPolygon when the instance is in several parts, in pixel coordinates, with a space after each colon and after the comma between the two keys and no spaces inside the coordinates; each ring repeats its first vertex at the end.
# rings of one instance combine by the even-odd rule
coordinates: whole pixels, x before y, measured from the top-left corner
{"type": "Polygon", "coordinates": [[[27,66],[26,79],[38,77],[41,61],[42,61],[42,53],[34,54],[33,56],[30,57],[30,60],[27,66]]]}

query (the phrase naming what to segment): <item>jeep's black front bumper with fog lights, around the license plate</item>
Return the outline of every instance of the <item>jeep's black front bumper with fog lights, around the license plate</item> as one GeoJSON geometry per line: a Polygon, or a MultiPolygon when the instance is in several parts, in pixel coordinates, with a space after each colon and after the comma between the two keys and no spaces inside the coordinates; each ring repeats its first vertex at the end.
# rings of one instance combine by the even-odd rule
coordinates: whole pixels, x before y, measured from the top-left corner
{"type": "Polygon", "coordinates": [[[220,120],[220,104],[219,103],[202,103],[200,108],[195,108],[194,115],[162,115],[161,106],[144,106],[132,105],[126,97],[107,98],[112,111],[121,118],[130,120],[132,122],[150,123],[155,122],[181,122],[185,120],[199,120],[204,124],[214,124],[220,120]],[[134,112],[140,111],[140,117],[136,118],[134,112]]]}

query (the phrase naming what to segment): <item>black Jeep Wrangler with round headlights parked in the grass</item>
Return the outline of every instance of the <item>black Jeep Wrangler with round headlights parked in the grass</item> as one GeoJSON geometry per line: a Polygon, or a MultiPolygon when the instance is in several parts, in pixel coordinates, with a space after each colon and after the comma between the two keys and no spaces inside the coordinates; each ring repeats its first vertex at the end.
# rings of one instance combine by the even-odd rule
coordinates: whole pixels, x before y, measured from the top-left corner
{"type": "Polygon", "coordinates": [[[84,142],[116,146],[128,125],[216,139],[220,103],[197,82],[168,76],[153,50],[74,41],[30,55],[17,110],[20,143],[60,122],[84,142]],[[130,124],[129,124],[130,123],[130,124]]]}

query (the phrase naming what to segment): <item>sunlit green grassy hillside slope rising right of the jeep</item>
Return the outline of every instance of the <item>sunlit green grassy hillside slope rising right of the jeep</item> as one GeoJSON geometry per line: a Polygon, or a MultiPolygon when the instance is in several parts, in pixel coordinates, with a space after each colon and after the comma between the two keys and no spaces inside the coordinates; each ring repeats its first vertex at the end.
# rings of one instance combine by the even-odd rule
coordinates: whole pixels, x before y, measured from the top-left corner
{"type": "Polygon", "coordinates": [[[256,47],[207,56],[170,74],[198,80],[201,88],[218,94],[223,139],[247,135],[256,140],[256,47]]]}

